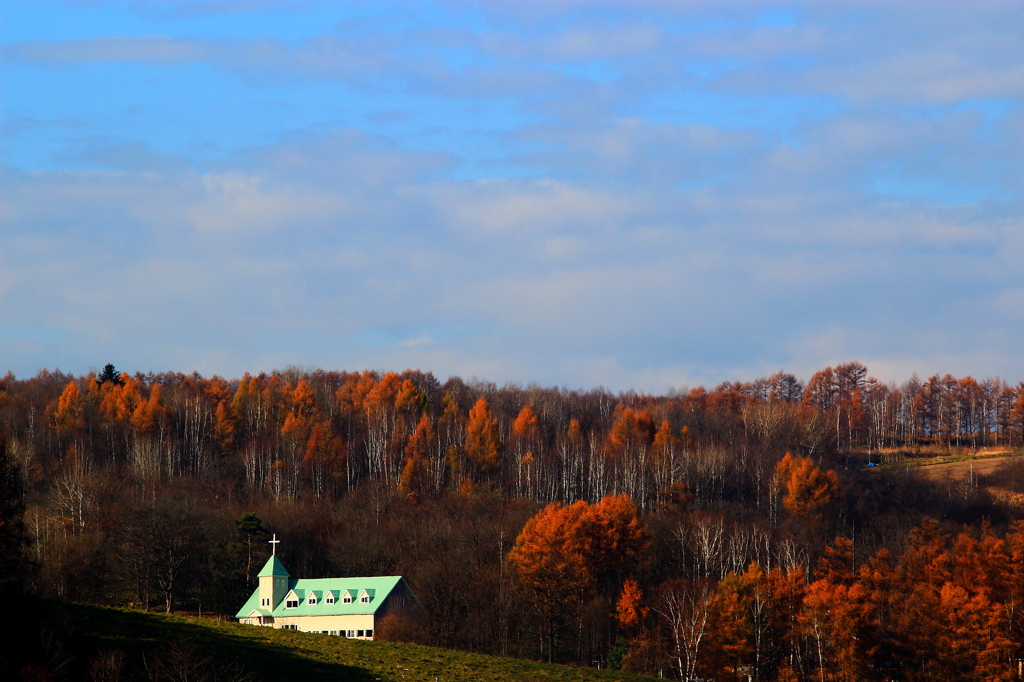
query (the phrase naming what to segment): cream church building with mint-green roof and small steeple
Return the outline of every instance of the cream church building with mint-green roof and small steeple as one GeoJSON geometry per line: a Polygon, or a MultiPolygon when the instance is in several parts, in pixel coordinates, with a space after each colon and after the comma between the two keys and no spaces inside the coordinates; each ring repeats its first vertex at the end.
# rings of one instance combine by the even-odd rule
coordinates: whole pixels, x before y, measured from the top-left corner
{"type": "Polygon", "coordinates": [[[234,617],[246,625],[373,639],[384,616],[420,608],[401,576],[294,580],[273,555],[234,617]]]}

